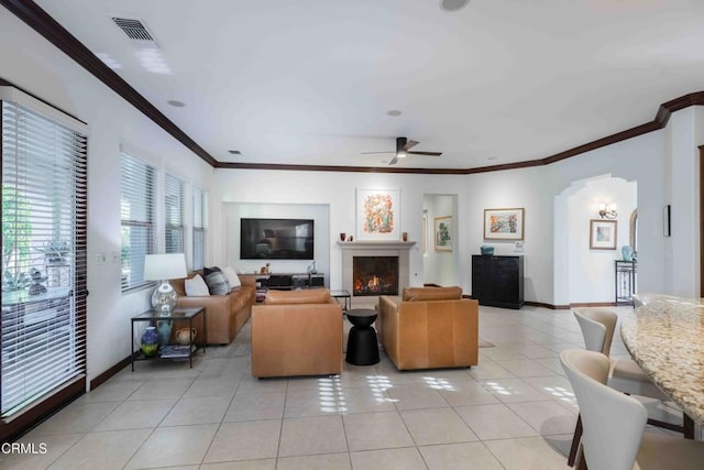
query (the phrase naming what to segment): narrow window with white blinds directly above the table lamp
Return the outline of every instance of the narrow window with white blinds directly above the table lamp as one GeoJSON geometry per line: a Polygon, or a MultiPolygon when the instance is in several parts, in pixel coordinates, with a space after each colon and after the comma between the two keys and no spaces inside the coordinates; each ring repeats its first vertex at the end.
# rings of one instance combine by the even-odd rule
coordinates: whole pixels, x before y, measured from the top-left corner
{"type": "Polygon", "coordinates": [[[144,256],[154,252],[154,177],[152,166],[123,153],[120,161],[122,291],[144,281],[144,256]]]}

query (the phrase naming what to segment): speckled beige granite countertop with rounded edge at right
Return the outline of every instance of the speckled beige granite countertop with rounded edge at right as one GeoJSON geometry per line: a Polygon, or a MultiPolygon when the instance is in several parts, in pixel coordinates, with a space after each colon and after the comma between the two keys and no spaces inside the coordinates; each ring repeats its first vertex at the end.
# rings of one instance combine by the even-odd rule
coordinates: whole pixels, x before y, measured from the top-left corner
{"type": "Polygon", "coordinates": [[[657,300],[624,317],[634,360],[694,422],[704,424],[704,303],[657,300]]]}

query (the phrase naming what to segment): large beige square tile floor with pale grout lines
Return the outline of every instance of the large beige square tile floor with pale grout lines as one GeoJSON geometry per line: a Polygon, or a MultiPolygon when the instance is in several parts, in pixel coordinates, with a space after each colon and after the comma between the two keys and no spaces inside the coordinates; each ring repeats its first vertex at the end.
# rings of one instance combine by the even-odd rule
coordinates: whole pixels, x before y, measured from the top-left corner
{"type": "Polygon", "coordinates": [[[125,368],[21,438],[46,453],[0,468],[568,468],[576,405],[558,354],[583,347],[573,315],[481,307],[480,336],[495,346],[472,369],[398,372],[382,353],[340,376],[256,380],[248,324],[193,370],[125,368]]]}

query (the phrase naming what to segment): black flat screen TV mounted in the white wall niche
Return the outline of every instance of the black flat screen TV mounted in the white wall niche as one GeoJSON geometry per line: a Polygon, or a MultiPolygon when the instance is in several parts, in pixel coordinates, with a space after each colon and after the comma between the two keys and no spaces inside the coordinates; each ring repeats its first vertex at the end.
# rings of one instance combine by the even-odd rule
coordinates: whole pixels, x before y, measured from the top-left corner
{"type": "Polygon", "coordinates": [[[315,221],[240,219],[242,260],[312,260],[315,221]]]}

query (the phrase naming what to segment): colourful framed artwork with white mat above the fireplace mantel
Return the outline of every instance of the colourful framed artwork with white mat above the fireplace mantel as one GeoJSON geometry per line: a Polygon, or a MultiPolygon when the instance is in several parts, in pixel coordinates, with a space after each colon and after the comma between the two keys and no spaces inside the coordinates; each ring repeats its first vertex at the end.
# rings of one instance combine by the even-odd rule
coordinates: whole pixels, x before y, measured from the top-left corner
{"type": "Polygon", "coordinates": [[[400,240],[400,190],[356,190],[356,239],[400,240]]]}

